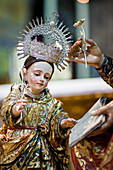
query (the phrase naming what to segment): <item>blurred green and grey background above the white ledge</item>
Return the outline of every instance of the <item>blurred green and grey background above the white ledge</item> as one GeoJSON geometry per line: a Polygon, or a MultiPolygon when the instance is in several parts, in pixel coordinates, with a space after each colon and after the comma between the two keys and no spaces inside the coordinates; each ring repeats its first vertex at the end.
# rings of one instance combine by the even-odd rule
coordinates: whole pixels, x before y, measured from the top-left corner
{"type": "MultiPolygon", "coordinates": [[[[0,84],[19,80],[20,63],[16,56],[17,37],[28,25],[28,21],[47,16],[58,11],[59,21],[69,27],[73,41],[80,37],[80,28],[73,24],[85,18],[86,37],[93,38],[103,53],[113,55],[113,1],[90,0],[83,4],[76,0],[0,0],[0,84]],[[107,12],[106,12],[107,9],[107,12]]],[[[93,67],[71,63],[62,73],[57,72],[54,79],[76,79],[97,77],[93,67]]]]}

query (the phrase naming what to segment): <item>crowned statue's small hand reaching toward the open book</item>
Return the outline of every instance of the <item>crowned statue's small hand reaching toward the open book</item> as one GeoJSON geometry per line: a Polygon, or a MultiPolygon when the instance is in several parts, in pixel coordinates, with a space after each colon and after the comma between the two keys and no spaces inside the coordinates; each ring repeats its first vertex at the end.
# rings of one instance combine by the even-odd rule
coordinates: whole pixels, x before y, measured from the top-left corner
{"type": "Polygon", "coordinates": [[[68,119],[63,119],[60,123],[60,126],[62,129],[72,128],[76,123],[77,121],[75,119],[68,118],[68,119]]]}

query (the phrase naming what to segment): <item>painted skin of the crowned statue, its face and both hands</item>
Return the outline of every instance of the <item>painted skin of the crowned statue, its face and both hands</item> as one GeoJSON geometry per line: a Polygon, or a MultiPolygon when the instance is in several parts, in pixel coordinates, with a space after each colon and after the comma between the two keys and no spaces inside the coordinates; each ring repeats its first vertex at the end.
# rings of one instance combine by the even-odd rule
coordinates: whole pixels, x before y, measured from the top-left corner
{"type": "MultiPolygon", "coordinates": [[[[29,92],[33,95],[39,95],[48,85],[52,75],[52,67],[47,62],[35,62],[27,70],[24,75],[25,80],[28,82],[29,92]]],[[[17,117],[24,110],[26,100],[18,100],[12,108],[13,117],[17,117]],[[18,107],[18,109],[17,109],[18,107]]],[[[64,119],[61,121],[61,127],[72,128],[76,124],[73,118],[64,119]]]]}

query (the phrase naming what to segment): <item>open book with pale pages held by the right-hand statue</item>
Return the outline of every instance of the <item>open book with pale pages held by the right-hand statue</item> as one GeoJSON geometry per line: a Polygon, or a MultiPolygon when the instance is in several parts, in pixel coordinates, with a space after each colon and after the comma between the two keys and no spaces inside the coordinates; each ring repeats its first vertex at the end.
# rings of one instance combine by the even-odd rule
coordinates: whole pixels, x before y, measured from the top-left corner
{"type": "Polygon", "coordinates": [[[84,139],[96,128],[100,127],[105,122],[105,115],[101,114],[99,116],[92,116],[90,113],[93,110],[97,110],[106,104],[107,98],[101,97],[91,109],[78,120],[77,124],[71,129],[69,137],[70,148],[75,146],[79,141],[84,139]]]}

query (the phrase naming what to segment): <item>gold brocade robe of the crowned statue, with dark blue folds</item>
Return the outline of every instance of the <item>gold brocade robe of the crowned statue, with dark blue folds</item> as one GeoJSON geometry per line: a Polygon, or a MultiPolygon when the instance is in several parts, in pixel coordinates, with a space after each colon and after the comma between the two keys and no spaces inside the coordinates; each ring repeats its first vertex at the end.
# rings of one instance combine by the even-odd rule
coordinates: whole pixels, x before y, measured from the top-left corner
{"type": "Polygon", "coordinates": [[[24,95],[27,104],[22,120],[20,116],[13,118],[12,106],[21,98],[20,87],[13,87],[1,107],[4,125],[0,129],[0,169],[67,169],[70,131],[62,131],[59,125],[68,117],[62,103],[48,91],[40,99],[24,95]]]}

